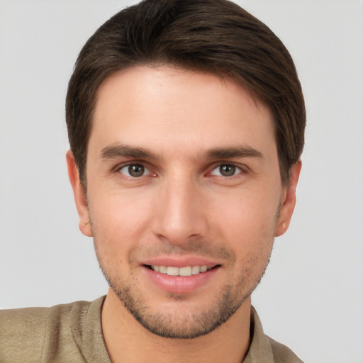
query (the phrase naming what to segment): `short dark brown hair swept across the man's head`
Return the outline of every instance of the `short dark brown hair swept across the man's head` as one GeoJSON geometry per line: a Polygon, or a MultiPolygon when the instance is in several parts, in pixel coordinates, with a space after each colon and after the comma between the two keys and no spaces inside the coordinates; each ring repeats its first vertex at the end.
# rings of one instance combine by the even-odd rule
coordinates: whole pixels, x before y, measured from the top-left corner
{"type": "Polygon", "coordinates": [[[79,53],[69,81],[69,144],[86,185],[96,92],[134,65],[175,65],[232,77],[271,109],[281,181],[303,150],[306,111],[291,55],[264,23],[228,0],[144,0],[102,25],[79,53]]]}

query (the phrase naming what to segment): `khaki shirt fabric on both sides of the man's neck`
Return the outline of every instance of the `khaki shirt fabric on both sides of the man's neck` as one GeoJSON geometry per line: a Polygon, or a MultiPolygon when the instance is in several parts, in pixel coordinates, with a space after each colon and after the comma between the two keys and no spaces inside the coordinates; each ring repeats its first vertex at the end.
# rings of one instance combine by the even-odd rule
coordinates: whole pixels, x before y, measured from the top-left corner
{"type": "MultiPolygon", "coordinates": [[[[101,328],[104,299],[0,311],[0,363],[111,363],[101,328]]],[[[264,335],[254,308],[251,337],[242,363],[302,363],[264,335]]]]}

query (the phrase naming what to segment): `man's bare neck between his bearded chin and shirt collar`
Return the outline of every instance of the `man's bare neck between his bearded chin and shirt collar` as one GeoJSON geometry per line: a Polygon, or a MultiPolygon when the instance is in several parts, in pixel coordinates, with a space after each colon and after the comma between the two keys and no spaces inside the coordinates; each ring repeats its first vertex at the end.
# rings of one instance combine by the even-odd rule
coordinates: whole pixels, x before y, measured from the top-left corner
{"type": "Polygon", "coordinates": [[[112,363],[240,363],[250,343],[250,308],[247,298],[213,332],[193,339],[174,339],[143,328],[109,289],[102,308],[102,331],[112,363]]]}

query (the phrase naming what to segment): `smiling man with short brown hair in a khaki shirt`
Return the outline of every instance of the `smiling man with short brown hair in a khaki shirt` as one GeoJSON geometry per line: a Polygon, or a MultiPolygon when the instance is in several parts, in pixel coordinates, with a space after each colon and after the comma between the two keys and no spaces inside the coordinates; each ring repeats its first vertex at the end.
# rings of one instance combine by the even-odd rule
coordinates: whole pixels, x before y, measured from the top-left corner
{"type": "Polygon", "coordinates": [[[224,0],[148,0],[84,45],[69,179],[106,297],[2,311],[1,362],[301,362],[250,296],[289,226],[305,108],[294,63],[224,0]]]}

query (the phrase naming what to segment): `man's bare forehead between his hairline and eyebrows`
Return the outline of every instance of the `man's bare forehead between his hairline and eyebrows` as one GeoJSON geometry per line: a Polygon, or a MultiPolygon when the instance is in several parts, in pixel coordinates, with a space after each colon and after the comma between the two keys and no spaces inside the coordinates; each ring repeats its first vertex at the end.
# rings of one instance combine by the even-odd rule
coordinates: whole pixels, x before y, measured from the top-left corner
{"type": "Polygon", "coordinates": [[[160,152],[178,146],[197,152],[231,143],[261,147],[274,144],[274,123],[269,108],[232,79],[140,66],[117,72],[101,84],[92,143],[98,148],[133,143],[160,152]],[[171,139],[174,144],[167,143],[171,139]]]}

